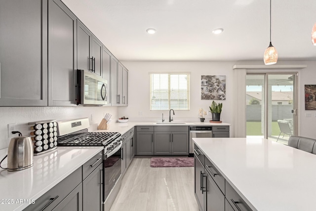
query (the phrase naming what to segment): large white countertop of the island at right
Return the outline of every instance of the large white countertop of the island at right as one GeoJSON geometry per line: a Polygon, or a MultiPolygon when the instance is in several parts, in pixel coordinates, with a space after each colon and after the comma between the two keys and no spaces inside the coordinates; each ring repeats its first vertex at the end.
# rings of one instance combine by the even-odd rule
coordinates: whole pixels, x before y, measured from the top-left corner
{"type": "Polygon", "coordinates": [[[316,210],[316,155],[263,138],[193,140],[253,210],[316,210]]]}

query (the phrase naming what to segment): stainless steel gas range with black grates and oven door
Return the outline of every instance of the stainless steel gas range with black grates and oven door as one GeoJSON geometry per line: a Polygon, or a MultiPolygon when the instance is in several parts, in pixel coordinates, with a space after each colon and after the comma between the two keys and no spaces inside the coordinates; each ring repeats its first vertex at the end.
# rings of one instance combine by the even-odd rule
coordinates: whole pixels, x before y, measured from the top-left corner
{"type": "Polygon", "coordinates": [[[110,209],[121,186],[121,134],[118,132],[88,132],[88,118],[57,122],[57,146],[104,146],[103,204],[110,209]]]}

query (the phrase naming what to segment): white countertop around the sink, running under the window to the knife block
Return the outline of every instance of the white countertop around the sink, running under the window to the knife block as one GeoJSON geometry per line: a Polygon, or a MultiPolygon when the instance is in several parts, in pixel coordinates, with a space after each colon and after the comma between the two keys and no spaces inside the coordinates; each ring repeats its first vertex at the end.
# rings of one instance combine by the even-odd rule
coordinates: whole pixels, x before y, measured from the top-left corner
{"type": "MultiPolygon", "coordinates": [[[[91,125],[89,132],[119,132],[121,134],[127,132],[134,126],[230,126],[228,123],[209,123],[209,122],[186,122],[185,124],[157,124],[157,122],[127,122],[127,123],[110,123],[109,129],[97,129],[98,124],[91,125]]],[[[181,122],[183,123],[183,122],[181,122]]]]}

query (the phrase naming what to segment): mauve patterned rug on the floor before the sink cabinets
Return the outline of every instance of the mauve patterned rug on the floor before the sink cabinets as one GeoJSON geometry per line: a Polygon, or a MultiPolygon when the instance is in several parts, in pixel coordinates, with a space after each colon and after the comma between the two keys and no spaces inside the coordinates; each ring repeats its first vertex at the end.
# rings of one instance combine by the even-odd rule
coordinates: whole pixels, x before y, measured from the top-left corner
{"type": "Polygon", "coordinates": [[[150,167],[194,167],[194,157],[151,158],[150,167]]]}

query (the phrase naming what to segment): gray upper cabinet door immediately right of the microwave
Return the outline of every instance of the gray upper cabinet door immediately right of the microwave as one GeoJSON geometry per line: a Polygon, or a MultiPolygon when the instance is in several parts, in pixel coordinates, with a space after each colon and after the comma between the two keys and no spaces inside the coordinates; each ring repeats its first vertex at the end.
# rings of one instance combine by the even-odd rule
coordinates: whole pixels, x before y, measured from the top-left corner
{"type": "Polygon", "coordinates": [[[103,45],[102,48],[102,78],[108,81],[108,101],[107,105],[111,105],[111,53],[103,45]]]}

